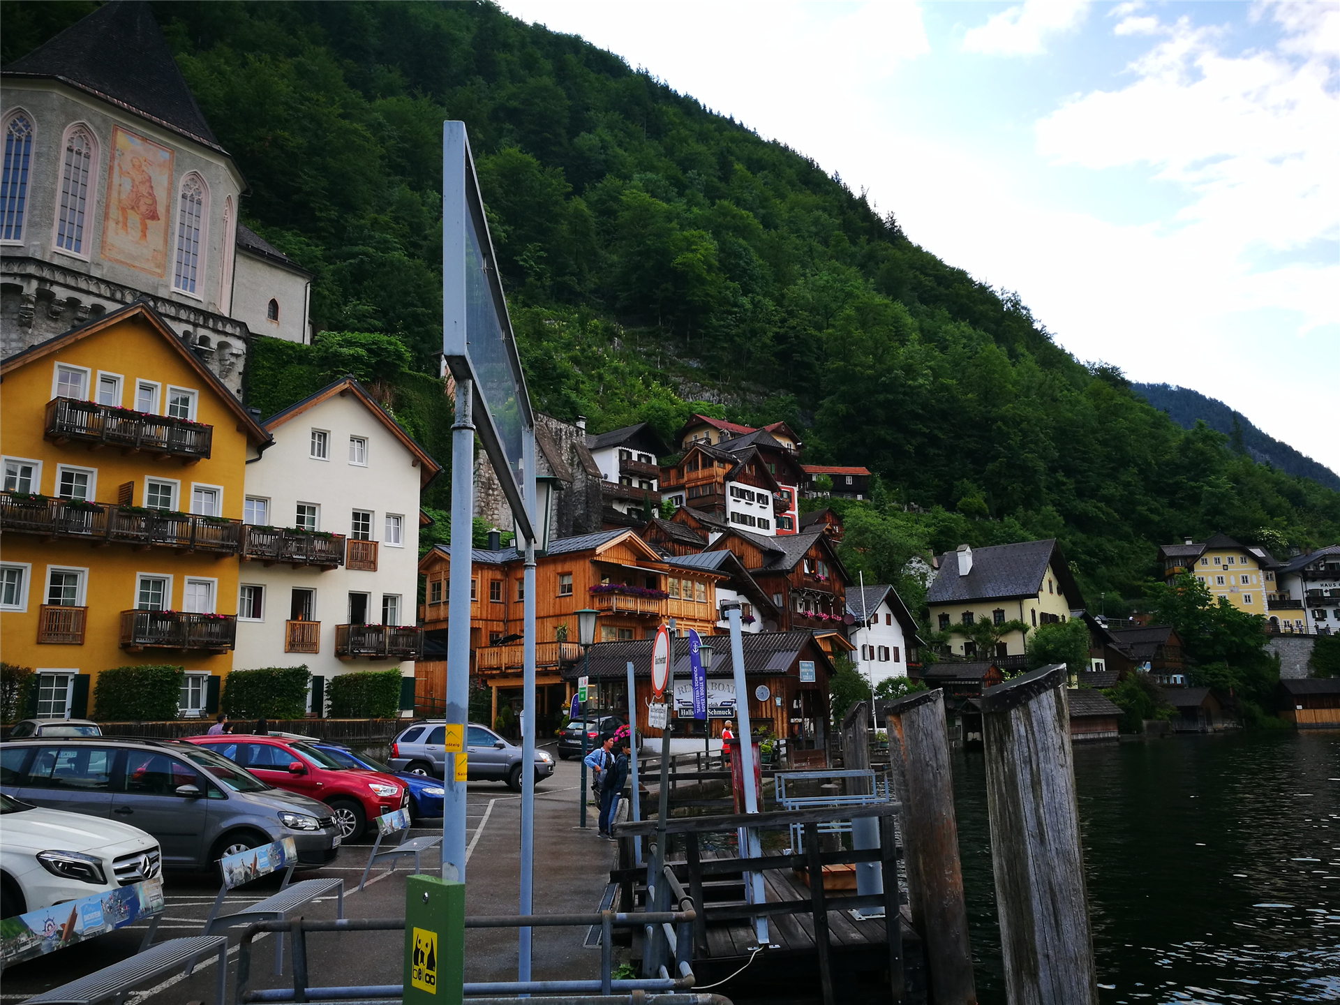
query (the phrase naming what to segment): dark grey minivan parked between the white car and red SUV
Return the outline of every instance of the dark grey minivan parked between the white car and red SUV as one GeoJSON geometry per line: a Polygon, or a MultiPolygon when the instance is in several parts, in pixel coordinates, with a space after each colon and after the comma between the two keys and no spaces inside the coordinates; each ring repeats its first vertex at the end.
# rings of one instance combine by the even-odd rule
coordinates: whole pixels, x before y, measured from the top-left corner
{"type": "Polygon", "coordinates": [[[0,792],[147,831],[165,870],[212,867],[224,855],[283,838],[293,839],[300,866],[324,866],[342,840],[330,807],[180,740],[7,741],[0,745],[0,792]]]}

